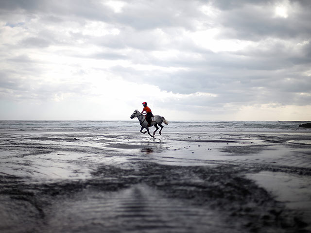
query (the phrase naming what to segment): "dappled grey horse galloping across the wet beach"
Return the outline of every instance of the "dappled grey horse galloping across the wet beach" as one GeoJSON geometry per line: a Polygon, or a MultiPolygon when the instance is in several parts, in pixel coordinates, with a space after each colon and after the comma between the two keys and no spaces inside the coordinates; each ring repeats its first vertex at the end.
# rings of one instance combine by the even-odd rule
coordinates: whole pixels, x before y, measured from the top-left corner
{"type": "Polygon", "coordinates": [[[159,127],[157,127],[158,125],[161,127],[159,134],[161,135],[161,131],[163,129],[163,125],[162,122],[164,122],[164,124],[168,125],[169,122],[167,122],[167,120],[163,117],[163,116],[159,116],[159,115],[155,115],[152,118],[155,119],[155,121],[151,121],[150,126],[155,126],[155,132],[154,135],[151,135],[149,132],[149,127],[148,127],[148,122],[146,120],[146,117],[144,115],[142,115],[138,110],[135,110],[134,113],[131,116],[131,119],[137,117],[139,120],[139,124],[141,125],[141,129],[140,129],[140,133],[147,133],[152,136],[153,138],[155,138],[155,132],[159,129],[159,127]],[[143,129],[146,129],[147,131],[142,132],[143,129]]]}

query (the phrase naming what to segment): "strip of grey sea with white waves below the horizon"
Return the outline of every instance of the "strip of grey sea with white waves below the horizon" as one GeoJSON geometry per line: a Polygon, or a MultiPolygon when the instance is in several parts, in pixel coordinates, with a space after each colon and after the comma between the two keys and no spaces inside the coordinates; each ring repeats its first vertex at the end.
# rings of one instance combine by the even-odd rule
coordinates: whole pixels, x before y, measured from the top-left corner
{"type": "MultiPolygon", "coordinates": [[[[169,121],[167,132],[311,132],[299,127],[307,121],[169,121]]],[[[98,131],[136,132],[137,119],[126,121],[0,121],[0,131],[98,131]]]]}

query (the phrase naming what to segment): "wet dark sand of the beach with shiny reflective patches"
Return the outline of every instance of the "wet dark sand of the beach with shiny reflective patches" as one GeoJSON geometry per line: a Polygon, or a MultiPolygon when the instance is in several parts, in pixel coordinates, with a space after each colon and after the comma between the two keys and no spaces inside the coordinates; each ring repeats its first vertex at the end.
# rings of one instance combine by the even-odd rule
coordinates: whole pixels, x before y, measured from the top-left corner
{"type": "Polygon", "coordinates": [[[0,232],[311,232],[311,134],[1,132],[0,232]]]}

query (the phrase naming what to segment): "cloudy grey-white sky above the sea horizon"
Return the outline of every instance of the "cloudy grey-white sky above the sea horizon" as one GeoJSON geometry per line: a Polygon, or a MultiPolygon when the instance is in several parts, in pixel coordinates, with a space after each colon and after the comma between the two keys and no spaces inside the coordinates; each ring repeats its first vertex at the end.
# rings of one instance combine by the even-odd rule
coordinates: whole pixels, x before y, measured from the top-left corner
{"type": "Polygon", "coordinates": [[[0,120],[311,120],[310,0],[0,0],[0,120]]]}

